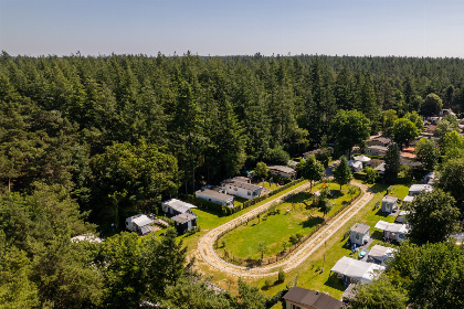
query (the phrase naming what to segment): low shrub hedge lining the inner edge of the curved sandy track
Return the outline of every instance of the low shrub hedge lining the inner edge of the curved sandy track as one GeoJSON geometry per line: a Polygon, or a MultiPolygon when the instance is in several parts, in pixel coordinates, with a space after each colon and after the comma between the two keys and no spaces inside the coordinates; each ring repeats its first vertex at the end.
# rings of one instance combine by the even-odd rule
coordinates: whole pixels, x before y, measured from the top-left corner
{"type": "MultiPolygon", "coordinates": [[[[285,198],[281,199],[281,201],[278,203],[273,203],[271,206],[266,207],[262,212],[253,215],[253,217],[251,217],[251,219],[249,219],[246,221],[241,221],[241,222],[236,223],[234,226],[232,226],[231,228],[229,228],[229,230],[220,233],[218,235],[218,237],[215,238],[215,248],[218,248],[218,241],[219,241],[219,238],[221,238],[223,235],[225,235],[226,233],[235,230],[236,227],[239,227],[239,226],[241,226],[243,224],[247,224],[249,221],[252,221],[253,219],[257,217],[259,215],[261,215],[264,212],[267,212],[267,211],[271,211],[271,210],[275,209],[276,206],[278,206],[280,204],[282,204],[283,201],[285,201],[287,199],[291,199],[292,196],[294,196],[294,195],[296,195],[298,193],[292,193],[292,194],[286,195],[285,198]]],[[[246,267],[268,265],[268,264],[273,264],[273,263],[276,263],[278,260],[282,260],[282,259],[286,258],[291,253],[293,253],[294,251],[296,251],[303,243],[305,243],[315,233],[317,233],[320,230],[320,227],[325,226],[328,222],[330,222],[330,220],[333,220],[335,216],[337,216],[339,213],[341,213],[348,206],[350,206],[352,204],[352,202],[356,201],[359,198],[360,194],[361,194],[361,190],[359,190],[359,192],[354,198],[351,198],[344,206],[341,206],[339,210],[337,210],[329,217],[326,217],[321,223],[317,224],[315,226],[315,228],[309,234],[304,235],[292,247],[287,248],[285,252],[281,252],[281,253],[278,253],[275,256],[271,256],[271,257],[266,257],[266,258],[262,258],[262,259],[241,258],[241,257],[236,257],[234,255],[230,255],[228,252],[224,252],[224,259],[229,260],[232,264],[235,264],[235,265],[239,265],[239,266],[246,266],[246,267]]]]}

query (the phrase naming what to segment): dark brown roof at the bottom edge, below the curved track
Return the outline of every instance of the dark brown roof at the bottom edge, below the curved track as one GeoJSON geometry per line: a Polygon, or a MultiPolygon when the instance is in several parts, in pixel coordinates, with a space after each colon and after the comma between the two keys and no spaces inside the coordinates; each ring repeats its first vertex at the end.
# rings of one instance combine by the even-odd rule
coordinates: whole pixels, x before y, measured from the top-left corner
{"type": "Polygon", "coordinates": [[[324,292],[293,287],[284,297],[285,300],[297,302],[300,305],[312,306],[316,309],[339,309],[342,302],[324,292]]]}

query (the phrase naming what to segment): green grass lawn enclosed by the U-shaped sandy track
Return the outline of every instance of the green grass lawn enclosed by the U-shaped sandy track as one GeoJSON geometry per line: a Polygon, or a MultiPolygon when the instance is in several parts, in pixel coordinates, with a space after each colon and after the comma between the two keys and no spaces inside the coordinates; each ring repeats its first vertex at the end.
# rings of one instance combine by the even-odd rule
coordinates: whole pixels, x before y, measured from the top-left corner
{"type": "MultiPolygon", "coordinates": [[[[318,184],[313,188],[313,192],[320,189],[321,185],[318,184]]],[[[347,193],[347,185],[342,187],[341,192],[338,184],[328,183],[326,185],[329,185],[330,191],[334,193],[331,200],[336,204],[327,214],[327,216],[330,216],[345,205],[351,196],[347,193]]],[[[259,245],[264,243],[267,249],[264,256],[275,256],[283,251],[284,242],[288,243],[287,247],[291,246],[289,237],[292,235],[297,233],[300,235],[309,234],[317,224],[324,222],[324,214],[316,207],[306,210],[304,201],[307,201],[306,204],[312,204],[309,192],[302,192],[277,206],[281,211],[280,214],[266,217],[263,214],[261,219],[254,219],[247,225],[241,225],[226,233],[219,239],[220,246],[222,242],[225,242],[225,247],[220,247],[219,253],[223,255],[225,249],[229,254],[233,254],[236,257],[257,259],[261,257],[261,253],[257,249],[259,245]]]]}

